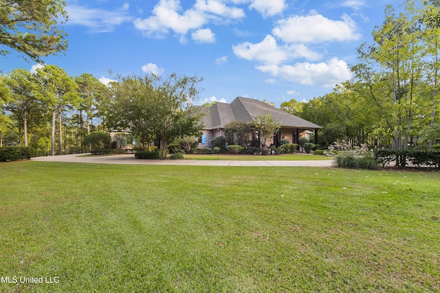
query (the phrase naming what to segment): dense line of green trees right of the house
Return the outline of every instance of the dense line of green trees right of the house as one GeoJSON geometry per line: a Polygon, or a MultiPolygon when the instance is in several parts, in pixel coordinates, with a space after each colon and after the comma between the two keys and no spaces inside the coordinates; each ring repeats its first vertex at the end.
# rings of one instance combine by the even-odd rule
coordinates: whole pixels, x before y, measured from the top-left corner
{"type": "Polygon", "coordinates": [[[358,48],[353,78],[325,96],[281,109],[323,127],[321,144],[432,146],[440,139],[440,1],[388,5],[373,42],[358,48]]]}

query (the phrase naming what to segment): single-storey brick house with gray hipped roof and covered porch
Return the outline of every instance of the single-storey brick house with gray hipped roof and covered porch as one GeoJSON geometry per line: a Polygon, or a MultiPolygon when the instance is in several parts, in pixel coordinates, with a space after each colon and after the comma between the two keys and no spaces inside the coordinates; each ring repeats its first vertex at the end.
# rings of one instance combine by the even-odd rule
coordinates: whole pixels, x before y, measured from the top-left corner
{"type": "MultiPolygon", "coordinates": [[[[259,116],[260,113],[263,116],[270,113],[281,126],[279,131],[274,133],[274,145],[278,145],[283,138],[289,142],[298,143],[300,138],[309,137],[311,131],[315,131],[316,142],[318,129],[321,128],[317,124],[252,98],[237,97],[230,104],[217,102],[210,107],[201,107],[201,111],[205,115],[199,147],[211,147],[210,141],[213,138],[224,135],[223,129],[226,124],[234,121],[252,124],[254,117],[259,116]]],[[[254,138],[256,138],[256,133],[252,133],[252,139],[254,138]]]]}

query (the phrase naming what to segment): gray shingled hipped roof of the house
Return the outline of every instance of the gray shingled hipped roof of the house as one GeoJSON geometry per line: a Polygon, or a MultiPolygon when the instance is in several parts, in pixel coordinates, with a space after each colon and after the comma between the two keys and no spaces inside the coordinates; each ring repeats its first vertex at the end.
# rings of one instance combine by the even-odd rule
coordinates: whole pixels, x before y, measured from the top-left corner
{"type": "Polygon", "coordinates": [[[272,118],[280,123],[281,127],[321,128],[317,124],[252,98],[237,97],[230,104],[217,102],[210,107],[201,108],[201,111],[206,112],[206,115],[203,117],[204,129],[223,129],[226,124],[234,121],[252,123],[253,117],[259,116],[259,113],[263,116],[270,113],[272,118]]]}

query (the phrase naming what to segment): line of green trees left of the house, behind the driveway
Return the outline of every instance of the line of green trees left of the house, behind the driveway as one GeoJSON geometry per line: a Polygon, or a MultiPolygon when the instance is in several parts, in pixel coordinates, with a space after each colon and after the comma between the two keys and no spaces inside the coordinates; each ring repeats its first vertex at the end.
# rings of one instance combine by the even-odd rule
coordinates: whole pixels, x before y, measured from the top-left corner
{"type": "Polygon", "coordinates": [[[24,145],[41,154],[90,151],[92,131],[126,131],[149,148],[159,138],[163,153],[181,135],[201,130],[193,107],[201,78],[170,74],[118,76],[108,86],[85,73],[72,77],[55,65],[0,76],[0,146],[24,145]]]}

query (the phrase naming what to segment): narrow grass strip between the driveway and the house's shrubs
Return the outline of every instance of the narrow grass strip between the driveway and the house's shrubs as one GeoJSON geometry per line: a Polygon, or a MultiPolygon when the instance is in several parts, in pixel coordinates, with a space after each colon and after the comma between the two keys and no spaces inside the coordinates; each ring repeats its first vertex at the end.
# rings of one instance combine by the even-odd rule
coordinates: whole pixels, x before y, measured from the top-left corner
{"type": "Polygon", "coordinates": [[[239,161],[303,161],[303,160],[333,160],[325,155],[289,153],[283,155],[184,155],[185,160],[239,160],[239,161]]]}

